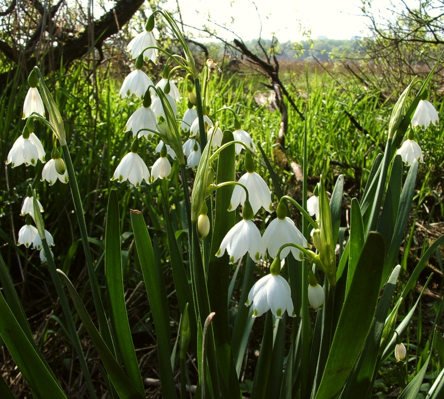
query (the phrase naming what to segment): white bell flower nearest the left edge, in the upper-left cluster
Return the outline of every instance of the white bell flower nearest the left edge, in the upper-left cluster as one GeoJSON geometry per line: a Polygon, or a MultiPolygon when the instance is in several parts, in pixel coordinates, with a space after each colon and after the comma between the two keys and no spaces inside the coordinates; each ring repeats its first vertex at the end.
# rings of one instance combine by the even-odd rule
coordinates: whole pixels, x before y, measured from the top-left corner
{"type": "MultiPolygon", "coordinates": [[[[27,129],[27,128],[25,128],[27,129]]],[[[45,150],[34,133],[21,134],[12,145],[6,164],[16,167],[22,164],[36,166],[37,159],[45,163],[45,150]],[[29,135],[28,135],[29,134],[29,135]],[[27,138],[25,138],[28,135],[27,138]]]]}

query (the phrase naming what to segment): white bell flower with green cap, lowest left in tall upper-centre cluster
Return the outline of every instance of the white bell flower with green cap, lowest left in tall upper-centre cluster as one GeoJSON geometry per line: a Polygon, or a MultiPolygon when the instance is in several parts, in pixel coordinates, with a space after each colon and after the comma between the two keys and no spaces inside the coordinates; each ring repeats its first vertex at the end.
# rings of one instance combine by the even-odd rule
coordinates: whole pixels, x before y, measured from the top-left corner
{"type": "Polygon", "coordinates": [[[138,148],[139,140],[136,137],[131,145],[131,152],[122,158],[111,180],[118,180],[119,183],[129,180],[132,185],[139,187],[142,180],[145,179],[149,184],[149,170],[142,158],[137,154],[138,148]]]}

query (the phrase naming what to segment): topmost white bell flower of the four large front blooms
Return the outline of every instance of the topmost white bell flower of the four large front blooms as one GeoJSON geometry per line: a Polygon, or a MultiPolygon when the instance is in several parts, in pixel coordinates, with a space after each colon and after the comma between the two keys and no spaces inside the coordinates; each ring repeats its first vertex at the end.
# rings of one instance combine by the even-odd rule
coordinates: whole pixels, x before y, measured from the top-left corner
{"type": "MultiPolygon", "coordinates": [[[[256,172],[247,172],[241,176],[239,183],[243,184],[248,190],[248,196],[253,208],[253,213],[256,214],[261,206],[268,211],[273,212],[273,204],[271,202],[271,192],[265,180],[256,172]]],[[[244,205],[247,195],[241,186],[234,186],[233,194],[231,195],[229,211],[234,210],[240,203],[244,205]]]]}

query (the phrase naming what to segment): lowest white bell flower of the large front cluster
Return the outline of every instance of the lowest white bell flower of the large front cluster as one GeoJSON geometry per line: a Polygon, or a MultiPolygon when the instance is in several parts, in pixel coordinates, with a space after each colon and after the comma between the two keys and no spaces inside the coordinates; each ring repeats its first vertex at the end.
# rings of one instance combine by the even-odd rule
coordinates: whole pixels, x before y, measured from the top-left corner
{"type": "Polygon", "coordinates": [[[286,310],[289,316],[296,316],[290,286],[280,275],[267,274],[257,281],[245,304],[253,305],[253,317],[262,315],[268,309],[276,319],[281,319],[286,310]]]}

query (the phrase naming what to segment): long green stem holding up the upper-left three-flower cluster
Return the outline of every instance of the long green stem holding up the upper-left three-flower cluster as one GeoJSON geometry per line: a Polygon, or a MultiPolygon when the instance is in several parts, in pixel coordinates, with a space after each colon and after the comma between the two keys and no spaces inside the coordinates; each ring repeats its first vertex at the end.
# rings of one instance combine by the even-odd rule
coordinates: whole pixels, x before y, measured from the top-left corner
{"type": "Polygon", "coordinates": [[[108,319],[105,314],[102,299],[99,291],[99,284],[97,283],[96,273],[94,271],[93,260],[91,257],[91,250],[89,248],[88,233],[86,232],[85,215],[83,214],[82,201],[80,199],[80,193],[78,191],[77,179],[75,178],[74,166],[71,160],[70,151],[68,146],[62,145],[63,156],[65,158],[66,169],[68,171],[68,177],[70,179],[71,194],[73,196],[75,214],[77,215],[77,221],[80,228],[80,235],[82,238],[83,249],[86,257],[86,268],[88,270],[89,281],[91,283],[91,291],[94,299],[94,305],[97,311],[97,318],[99,319],[99,329],[103,336],[103,339],[107,343],[109,349],[114,354],[114,345],[112,343],[110,326],[108,325],[108,319]]]}

